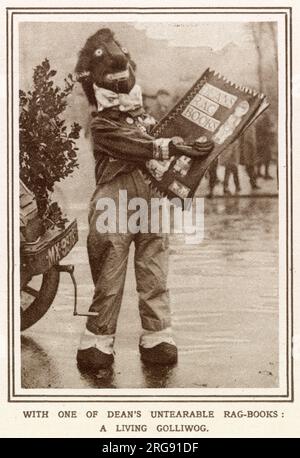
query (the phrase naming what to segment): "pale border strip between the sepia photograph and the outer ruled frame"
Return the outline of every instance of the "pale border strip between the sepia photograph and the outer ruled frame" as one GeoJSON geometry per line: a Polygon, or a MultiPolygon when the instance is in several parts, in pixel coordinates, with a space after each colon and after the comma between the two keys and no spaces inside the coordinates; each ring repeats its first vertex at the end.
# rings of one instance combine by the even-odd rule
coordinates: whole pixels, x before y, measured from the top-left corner
{"type": "MultiPolygon", "coordinates": [[[[193,10],[191,8],[191,10],[193,10]]],[[[234,8],[232,8],[234,10],[234,8]]],[[[199,11],[198,11],[199,13],[199,11]]],[[[225,15],[225,20],[226,22],[247,22],[247,21],[255,21],[261,20],[261,21],[267,21],[267,20],[272,20],[272,21],[278,21],[278,43],[279,43],[279,126],[284,126],[285,125],[285,107],[286,107],[286,96],[289,97],[289,94],[286,94],[286,89],[285,89],[285,46],[282,46],[282,43],[285,43],[285,30],[284,30],[284,17],[277,15],[272,15],[269,11],[267,13],[260,12],[258,9],[258,16],[254,16],[253,14],[247,14],[247,13],[240,13],[240,14],[234,14],[233,19],[234,20],[228,20],[228,15],[230,13],[227,12],[226,10],[226,15],[225,15]],[[259,19],[258,19],[259,18],[259,19]]],[[[200,21],[197,22],[222,22],[224,21],[224,15],[222,15],[222,12],[219,10],[217,13],[211,13],[210,14],[205,14],[203,18],[200,18],[200,14],[198,16],[200,21]]],[[[18,24],[19,22],[36,22],[36,21],[42,21],[42,22],[82,22],[82,21],[89,21],[89,22],[131,22],[131,21],[140,21],[140,22],[159,22],[166,20],[166,14],[155,14],[151,15],[151,13],[142,16],[140,14],[132,13],[132,14],[126,14],[123,15],[110,15],[108,13],[96,13],[93,12],[93,15],[72,15],[71,13],[67,13],[65,15],[53,15],[50,12],[48,14],[42,14],[42,15],[30,15],[30,14],[22,14],[22,15],[17,15],[14,17],[14,100],[18,100],[18,77],[19,77],[19,71],[18,71],[18,62],[19,62],[19,52],[18,52],[18,24]],[[120,21],[120,16],[122,20],[120,21]]],[[[167,22],[195,22],[195,12],[191,14],[172,14],[171,12],[168,13],[167,17],[167,22]]],[[[289,72],[288,72],[289,74],[289,72]]],[[[14,106],[14,120],[18,119],[18,104],[15,103],[14,106]]],[[[16,121],[15,121],[16,122],[16,121]]],[[[14,341],[15,341],[15,381],[16,381],[16,386],[15,386],[15,397],[14,400],[20,400],[24,401],[27,399],[27,396],[34,396],[34,398],[28,398],[28,400],[60,400],[63,401],[62,396],[66,395],[72,395],[74,396],[72,399],[65,398],[65,400],[103,400],[103,401],[139,401],[139,400],[145,400],[145,401],[153,401],[153,400],[159,400],[159,396],[168,396],[166,397],[161,397],[161,401],[180,401],[180,400],[191,400],[191,401],[214,401],[215,398],[207,398],[206,396],[214,395],[218,396],[218,401],[229,401],[232,399],[234,400],[235,396],[243,396],[243,398],[235,398],[236,400],[240,401],[245,401],[245,400],[256,400],[253,399],[252,396],[264,396],[265,399],[267,400],[269,396],[278,396],[278,398],[269,398],[272,401],[280,400],[280,397],[282,396],[284,399],[286,396],[287,392],[287,387],[285,386],[285,380],[286,380],[286,373],[285,373],[285,366],[286,366],[286,353],[287,349],[286,348],[286,291],[285,287],[281,286],[279,288],[280,291],[280,297],[279,297],[279,303],[282,304],[280,305],[279,308],[279,323],[280,323],[280,376],[279,376],[279,388],[272,388],[272,389],[207,389],[207,388],[202,388],[202,389],[192,389],[192,388],[167,388],[167,389],[105,389],[101,390],[103,393],[100,395],[100,390],[97,389],[97,394],[95,394],[95,389],[76,389],[76,390],[65,390],[65,389],[23,389],[20,386],[20,347],[17,345],[18,342],[20,342],[20,332],[19,332],[19,292],[17,285],[19,283],[19,250],[17,247],[19,246],[19,208],[18,208],[18,132],[16,132],[17,129],[15,129],[14,132],[14,183],[15,183],[15,188],[14,188],[14,195],[15,197],[15,208],[14,208],[14,222],[15,222],[15,227],[14,227],[14,233],[15,233],[15,247],[16,247],[16,252],[15,252],[15,262],[16,262],[16,268],[15,268],[15,304],[14,304],[14,309],[15,309],[15,335],[14,335],[14,341]],[[19,382],[19,383],[17,383],[19,382]],[[222,394],[220,393],[222,392],[222,394]],[[40,396],[43,395],[45,396],[47,394],[48,396],[50,395],[55,395],[56,398],[41,398],[40,396]],[[89,396],[88,398],[77,398],[77,396],[89,396]],[[119,396],[132,396],[132,398],[122,398],[119,396]],[[174,398],[172,396],[187,396],[188,398],[174,398]],[[199,399],[197,398],[192,398],[190,396],[199,396],[199,399]],[[22,397],[21,397],[22,396],[22,397]],[[26,396],[23,398],[23,396],[26,396]],[[90,396],[93,396],[90,398],[90,396]],[[100,397],[101,396],[101,397],[100,397]],[[114,397],[118,396],[118,397],[114,397]],[[145,398],[138,398],[137,396],[155,396],[155,399],[152,397],[145,397],[145,398]],[[201,396],[201,397],[200,397],[201,396]],[[230,398],[223,398],[222,396],[230,396],[230,398]],[[251,396],[251,399],[249,397],[251,396]]],[[[280,183],[280,197],[279,197],[279,259],[280,259],[280,285],[285,285],[286,284],[286,276],[285,276],[285,265],[286,265],[286,249],[285,249],[285,235],[286,235],[286,160],[285,160],[285,128],[279,129],[279,183],[280,183]],[[283,185],[284,184],[284,185],[283,185]]],[[[289,151],[290,155],[290,151],[289,151]]],[[[10,165],[10,170],[11,170],[11,165],[10,165]]],[[[290,183],[289,183],[290,186],[290,183]]],[[[290,189],[289,189],[290,192],[290,189]]],[[[289,205],[290,208],[290,205],[289,205]]],[[[289,210],[288,210],[289,211],[289,210]]],[[[290,290],[290,285],[289,285],[289,290],[290,290]]],[[[287,305],[290,307],[290,304],[287,305]]],[[[289,310],[289,315],[290,315],[290,310],[289,310]]],[[[70,319],[72,319],[70,315],[70,319]]],[[[290,377],[291,379],[291,377],[290,377]]],[[[290,387],[289,387],[290,388],[290,387]]],[[[290,390],[289,390],[290,391],[290,390]]],[[[264,399],[262,398],[257,398],[258,401],[263,401],[264,399]]]]}

